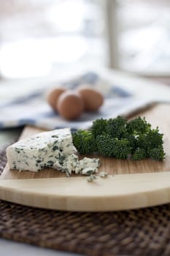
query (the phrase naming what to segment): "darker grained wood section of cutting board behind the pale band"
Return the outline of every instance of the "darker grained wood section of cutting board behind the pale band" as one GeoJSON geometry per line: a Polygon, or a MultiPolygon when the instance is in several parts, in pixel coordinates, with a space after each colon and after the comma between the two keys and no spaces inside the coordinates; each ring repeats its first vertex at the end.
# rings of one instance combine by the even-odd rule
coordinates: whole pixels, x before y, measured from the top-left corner
{"type": "MultiPolygon", "coordinates": [[[[170,105],[162,104],[155,105],[154,107],[140,113],[140,116],[145,116],[147,121],[152,124],[152,127],[159,127],[163,132],[164,150],[166,152],[166,159],[163,162],[155,161],[152,159],[145,159],[141,161],[120,160],[112,158],[104,158],[98,156],[86,156],[86,157],[98,157],[101,160],[101,167],[99,171],[106,171],[109,174],[128,174],[128,173],[154,173],[170,170],[170,105]]],[[[134,116],[133,116],[134,118],[134,116]]],[[[26,127],[23,130],[20,139],[29,137],[38,132],[42,132],[42,129],[35,127],[26,127]]],[[[30,171],[18,172],[18,170],[9,170],[8,166],[5,167],[4,172],[1,174],[1,179],[9,178],[54,178],[65,177],[66,175],[58,172],[54,169],[41,170],[38,173],[30,171]]]]}

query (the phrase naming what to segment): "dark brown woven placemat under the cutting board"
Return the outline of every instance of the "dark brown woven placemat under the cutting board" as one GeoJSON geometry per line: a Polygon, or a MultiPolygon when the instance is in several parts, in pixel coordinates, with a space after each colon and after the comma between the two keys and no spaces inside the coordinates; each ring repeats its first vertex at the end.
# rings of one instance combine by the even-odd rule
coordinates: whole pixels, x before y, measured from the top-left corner
{"type": "MultiPolygon", "coordinates": [[[[0,152],[0,170],[7,162],[0,152]]],[[[83,255],[170,255],[170,204],[77,213],[0,200],[0,237],[83,255]]]]}

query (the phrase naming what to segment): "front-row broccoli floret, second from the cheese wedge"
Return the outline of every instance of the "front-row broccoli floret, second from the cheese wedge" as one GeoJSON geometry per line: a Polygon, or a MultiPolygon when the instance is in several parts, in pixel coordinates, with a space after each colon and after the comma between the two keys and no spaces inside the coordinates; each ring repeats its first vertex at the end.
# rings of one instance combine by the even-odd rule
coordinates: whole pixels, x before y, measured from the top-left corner
{"type": "Polygon", "coordinates": [[[112,148],[113,148],[113,138],[111,135],[102,134],[98,135],[96,138],[96,145],[98,153],[102,157],[113,157],[112,148]]]}

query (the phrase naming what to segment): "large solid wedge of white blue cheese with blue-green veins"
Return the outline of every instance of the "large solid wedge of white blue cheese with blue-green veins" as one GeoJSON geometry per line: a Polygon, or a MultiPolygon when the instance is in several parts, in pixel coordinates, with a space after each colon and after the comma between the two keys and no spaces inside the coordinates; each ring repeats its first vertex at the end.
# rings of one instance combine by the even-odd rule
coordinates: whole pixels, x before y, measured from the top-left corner
{"type": "Polygon", "coordinates": [[[56,161],[62,162],[73,152],[70,129],[55,129],[12,144],[7,148],[7,161],[10,169],[37,172],[53,167],[56,161]]]}

